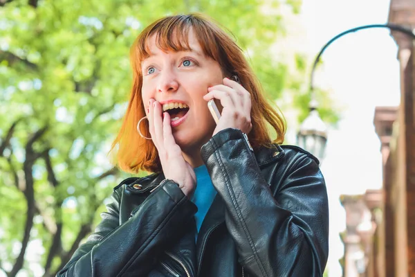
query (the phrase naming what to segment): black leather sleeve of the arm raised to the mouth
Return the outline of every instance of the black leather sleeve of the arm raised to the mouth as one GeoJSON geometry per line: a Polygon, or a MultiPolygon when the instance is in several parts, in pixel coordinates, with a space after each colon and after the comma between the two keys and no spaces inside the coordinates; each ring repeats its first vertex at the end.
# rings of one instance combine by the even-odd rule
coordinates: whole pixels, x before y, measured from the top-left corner
{"type": "Polygon", "coordinates": [[[120,198],[115,190],[95,233],[75,251],[58,277],[147,276],[156,257],[180,236],[180,226],[196,212],[181,189],[165,181],[120,225],[120,198]]]}

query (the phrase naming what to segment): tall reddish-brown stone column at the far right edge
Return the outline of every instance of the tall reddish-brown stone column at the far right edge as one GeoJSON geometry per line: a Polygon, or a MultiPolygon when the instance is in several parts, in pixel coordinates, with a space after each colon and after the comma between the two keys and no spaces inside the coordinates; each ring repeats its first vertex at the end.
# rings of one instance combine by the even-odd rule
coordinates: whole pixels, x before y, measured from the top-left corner
{"type": "MultiPolygon", "coordinates": [[[[415,1],[391,0],[389,23],[415,28],[415,1]]],[[[398,44],[401,102],[394,180],[395,265],[394,276],[415,276],[415,87],[414,40],[392,32],[398,44]]]]}

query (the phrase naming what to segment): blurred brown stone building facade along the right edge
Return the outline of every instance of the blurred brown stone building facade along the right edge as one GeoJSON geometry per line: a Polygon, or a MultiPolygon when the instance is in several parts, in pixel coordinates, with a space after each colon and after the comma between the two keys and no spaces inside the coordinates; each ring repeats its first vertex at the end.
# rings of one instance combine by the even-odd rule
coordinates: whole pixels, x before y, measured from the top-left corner
{"type": "MultiPolygon", "coordinates": [[[[415,29],[415,0],[391,0],[389,23],[415,29]]],[[[400,105],[378,107],[382,190],[342,196],[347,214],[343,276],[415,276],[415,40],[391,32],[398,44],[400,105]]]]}

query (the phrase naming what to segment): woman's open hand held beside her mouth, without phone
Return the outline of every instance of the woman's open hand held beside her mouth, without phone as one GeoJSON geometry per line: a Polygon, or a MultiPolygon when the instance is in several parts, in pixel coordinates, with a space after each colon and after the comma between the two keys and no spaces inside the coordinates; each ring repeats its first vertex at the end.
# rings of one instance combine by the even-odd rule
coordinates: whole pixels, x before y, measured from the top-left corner
{"type": "Polygon", "coordinates": [[[162,111],[160,103],[150,99],[147,117],[151,139],[158,150],[165,178],[175,181],[183,193],[191,197],[196,188],[196,175],[174,140],[170,115],[165,112],[163,116],[162,111]]]}

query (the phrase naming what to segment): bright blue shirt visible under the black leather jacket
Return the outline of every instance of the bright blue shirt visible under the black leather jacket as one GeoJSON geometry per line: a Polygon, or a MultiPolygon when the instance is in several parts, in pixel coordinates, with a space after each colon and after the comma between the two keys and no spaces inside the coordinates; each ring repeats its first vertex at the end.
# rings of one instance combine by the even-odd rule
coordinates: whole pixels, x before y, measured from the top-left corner
{"type": "Polygon", "coordinates": [[[194,172],[196,173],[197,183],[196,190],[194,190],[194,195],[192,197],[192,202],[196,204],[198,209],[197,213],[194,215],[194,219],[196,220],[197,238],[197,234],[201,229],[205,215],[208,213],[213,199],[216,196],[216,189],[210,180],[208,168],[206,168],[205,165],[194,168],[194,172]]]}

